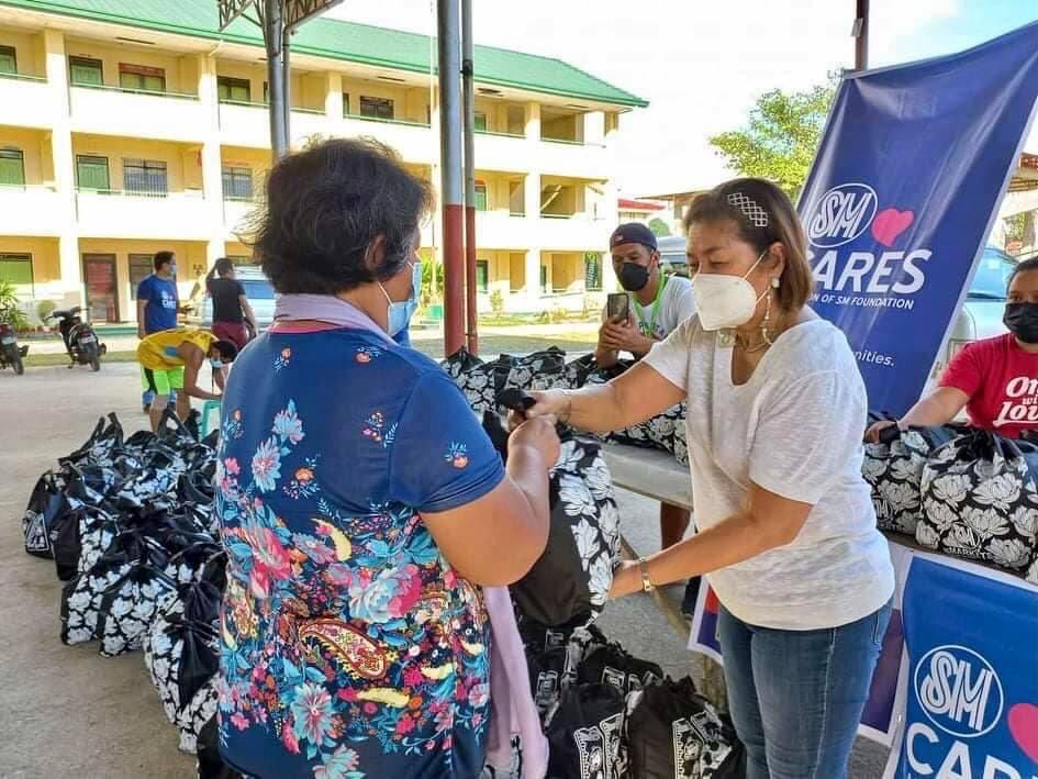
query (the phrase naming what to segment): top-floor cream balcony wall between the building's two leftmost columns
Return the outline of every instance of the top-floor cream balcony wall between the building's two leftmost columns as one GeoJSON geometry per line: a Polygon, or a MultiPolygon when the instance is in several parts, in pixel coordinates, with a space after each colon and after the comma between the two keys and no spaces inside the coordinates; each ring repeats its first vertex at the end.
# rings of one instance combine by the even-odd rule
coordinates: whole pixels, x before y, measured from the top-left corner
{"type": "Polygon", "coordinates": [[[69,94],[74,132],[191,142],[208,125],[197,94],[83,85],[69,94]]]}

